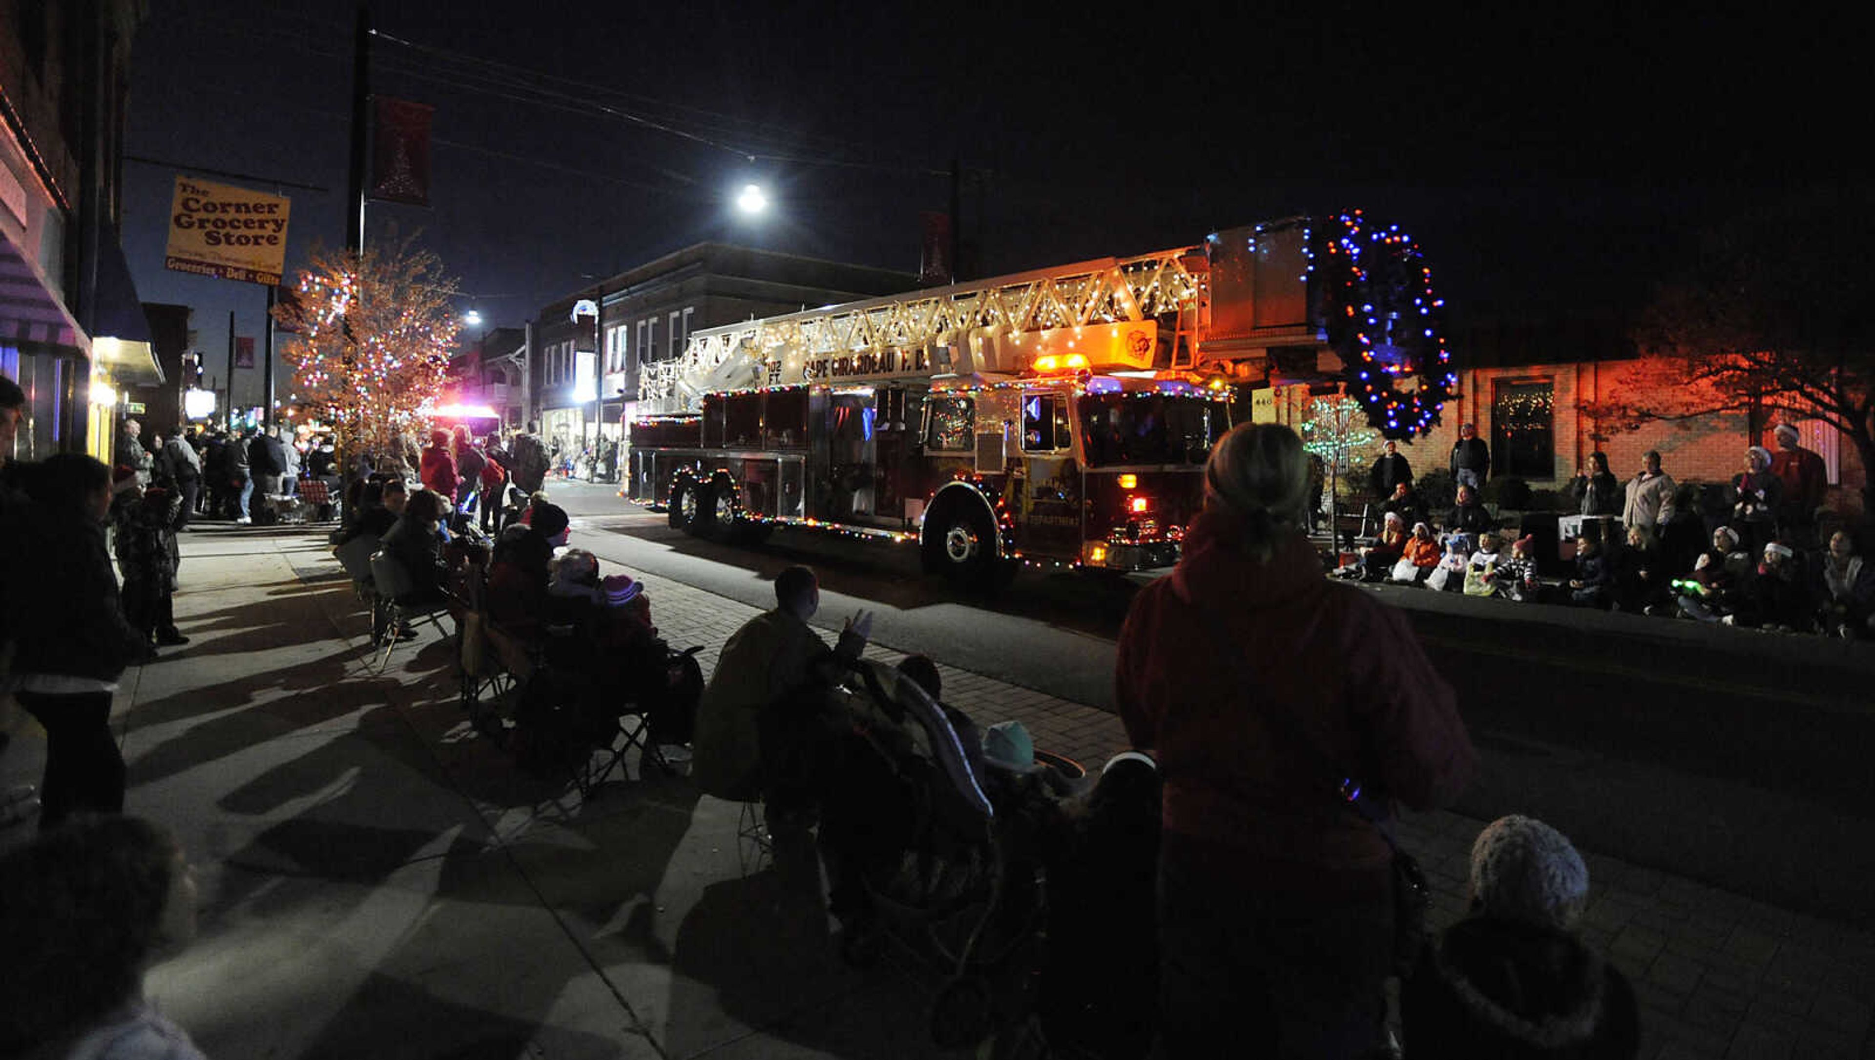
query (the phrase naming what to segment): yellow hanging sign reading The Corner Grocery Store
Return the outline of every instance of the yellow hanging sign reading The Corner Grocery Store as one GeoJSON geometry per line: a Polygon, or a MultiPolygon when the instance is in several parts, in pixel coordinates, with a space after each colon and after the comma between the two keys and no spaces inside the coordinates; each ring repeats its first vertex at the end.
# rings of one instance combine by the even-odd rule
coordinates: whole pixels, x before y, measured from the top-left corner
{"type": "Polygon", "coordinates": [[[240,283],[279,283],[291,206],[285,195],[178,176],[163,268],[240,283]]]}

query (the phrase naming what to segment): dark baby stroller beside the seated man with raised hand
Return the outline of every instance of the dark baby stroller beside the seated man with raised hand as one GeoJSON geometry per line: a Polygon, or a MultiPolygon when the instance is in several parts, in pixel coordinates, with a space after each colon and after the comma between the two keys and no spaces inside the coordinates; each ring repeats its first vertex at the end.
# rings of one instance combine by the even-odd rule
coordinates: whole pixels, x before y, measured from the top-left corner
{"type": "Polygon", "coordinates": [[[896,944],[941,974],[932,1039],[971,1047],[1033,1004],[1041,860],[988,794],[947,708],[892,667],[853,669],[849,751],[821,792],[819,833],[842,957],[864,966],[896,944]]]}

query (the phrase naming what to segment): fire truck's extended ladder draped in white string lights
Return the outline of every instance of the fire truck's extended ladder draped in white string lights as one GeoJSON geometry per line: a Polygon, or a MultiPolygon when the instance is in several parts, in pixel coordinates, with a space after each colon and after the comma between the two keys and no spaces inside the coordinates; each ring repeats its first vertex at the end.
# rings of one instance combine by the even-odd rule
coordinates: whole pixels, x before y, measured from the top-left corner
{"type": "Polygon", "coordinates": [[[1185,337],[1206,290],[1202,255],[1179,247],[1097,258],[701,330],[681,358],[645,365],[639,408],[694,412],[707,391],[801,382],[782,369],[804,358],[943,346],[973,331],[1022,335],[1172,313],[1185,337]]]}

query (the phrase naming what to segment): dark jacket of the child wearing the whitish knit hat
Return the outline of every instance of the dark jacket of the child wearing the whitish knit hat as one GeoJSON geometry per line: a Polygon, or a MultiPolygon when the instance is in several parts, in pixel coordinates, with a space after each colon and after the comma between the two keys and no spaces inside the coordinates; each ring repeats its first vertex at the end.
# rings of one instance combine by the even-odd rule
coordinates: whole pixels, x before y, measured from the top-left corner
{"type": "Polygon", "coordinates": [[[1427,946],[1401,996],[1406,1056],[1635,1056],[1633,987],[1579,938],[1472,916],[1427,946]]]}

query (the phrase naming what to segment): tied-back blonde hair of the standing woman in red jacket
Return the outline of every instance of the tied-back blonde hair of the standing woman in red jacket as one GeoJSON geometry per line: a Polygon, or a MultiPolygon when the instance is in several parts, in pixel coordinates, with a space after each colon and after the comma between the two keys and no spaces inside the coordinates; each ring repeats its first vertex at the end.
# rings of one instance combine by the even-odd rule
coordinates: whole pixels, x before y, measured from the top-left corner
{"type": "Polygon", "coordinates": [[[1232,427],[1211,448],[1204,496],[1208,506],[1238,517],[1243,552],[1268,562],[1277,543],[1301,526],[1309,508],[1309,459],[1301,438],[1281,423],[1232,427]]]}

